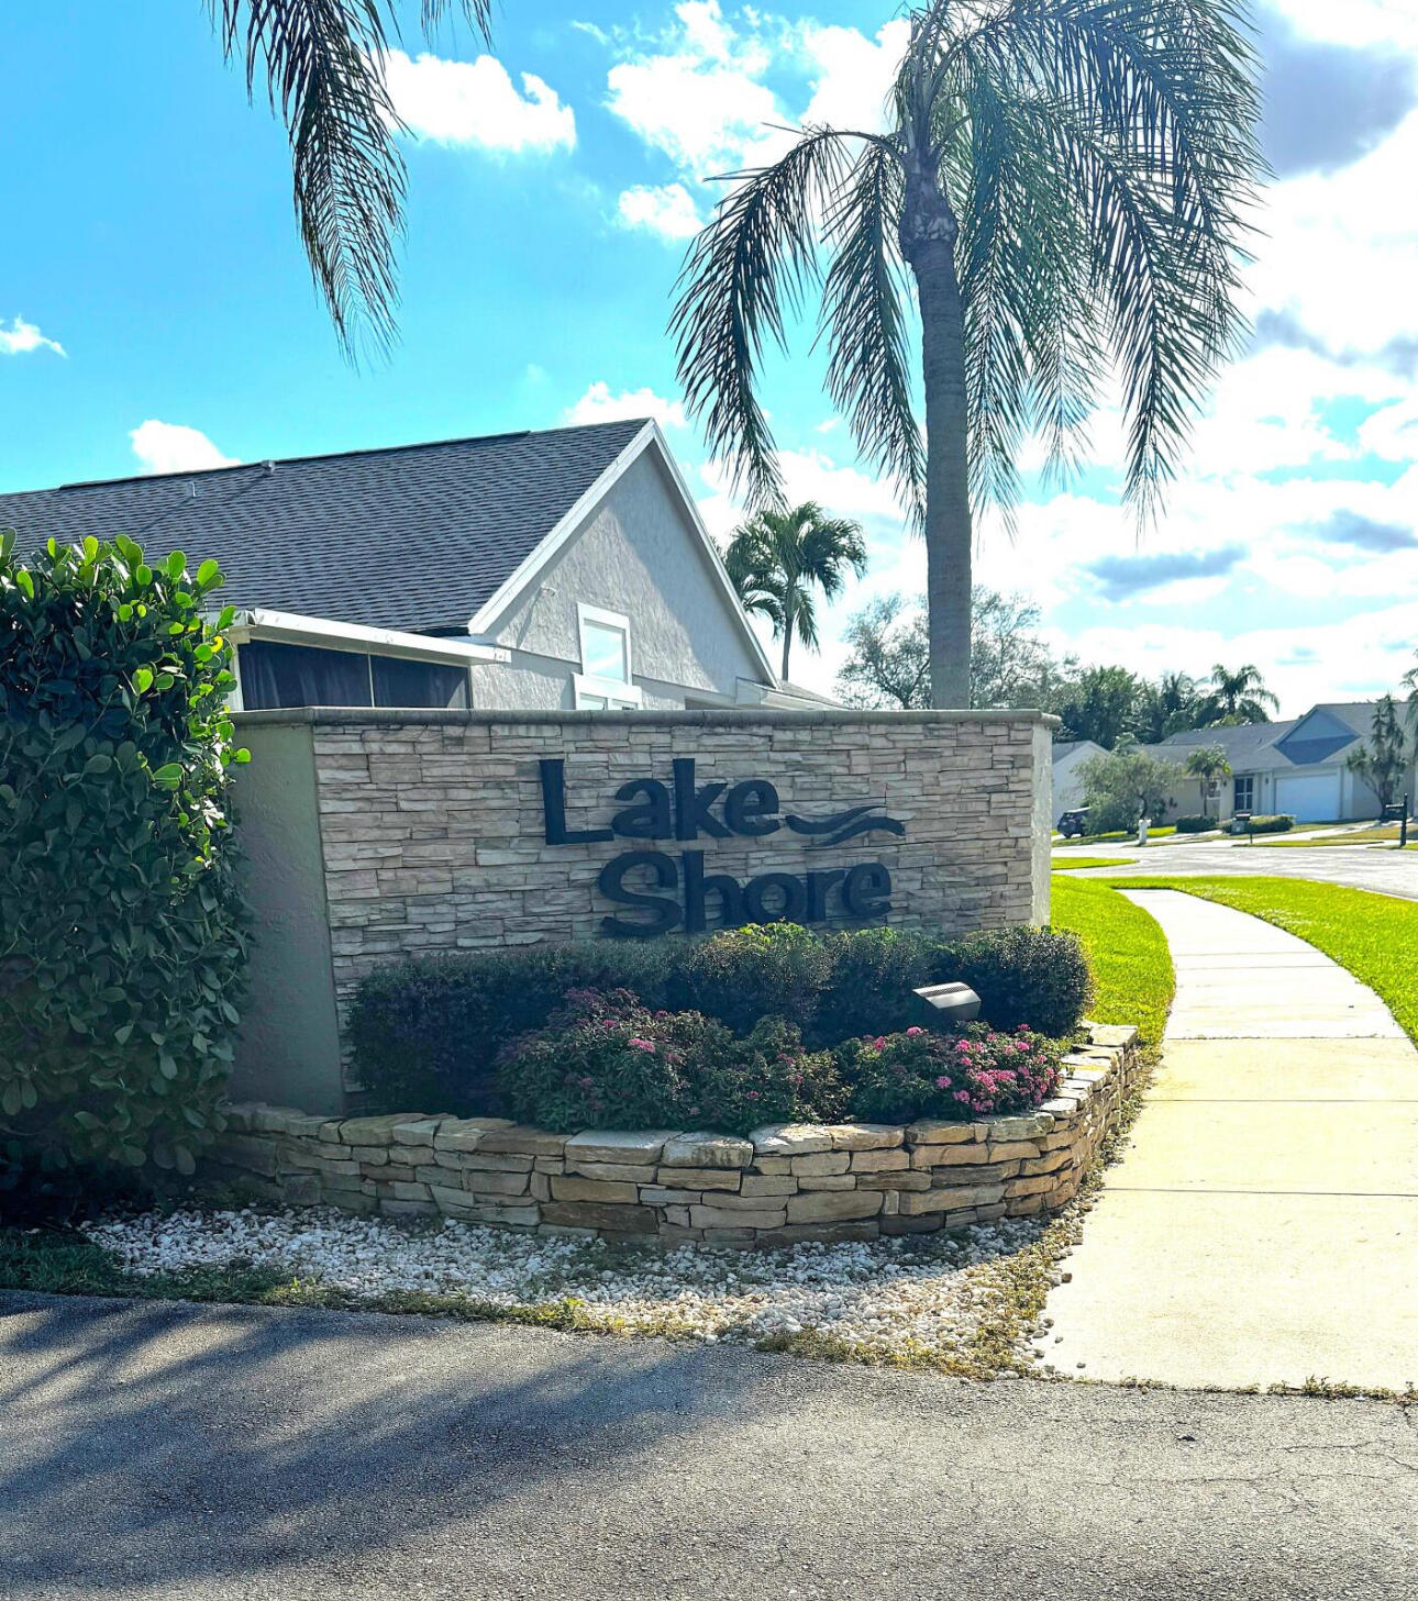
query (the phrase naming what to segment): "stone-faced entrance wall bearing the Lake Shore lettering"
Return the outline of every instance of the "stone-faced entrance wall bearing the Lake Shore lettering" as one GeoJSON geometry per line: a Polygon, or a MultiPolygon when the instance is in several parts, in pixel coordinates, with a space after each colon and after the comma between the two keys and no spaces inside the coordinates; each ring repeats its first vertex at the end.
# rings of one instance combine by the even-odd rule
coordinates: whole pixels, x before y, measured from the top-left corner
{"type": "MultiPolygon", "coordinates": [[[[803,921],[820,927],[891,922],[953,933],[1048,919],[1049,738],[1040,714],[351,709],[248,712],[239,722],[253,754],[239,800],[260,794],[264,815],[317,818],[314,879],[292,874],[279,850],[253,860],[264,943],[253,1001],[277,1015],[250,1034],[261,1055],[244,1053],[242,1084],[263,1098],[292,1098],[280,1085],[282,1031],[300,999],[285,975],[298,972],[322,1007],[333,986],[343,1015],[365,973],[405,954],[598,937],[607,917],[643,925],[678,906],[675,937],[692,922],[695,871],[732,877],[745,905],[766,897],[767,914],[796,895],[803,921]],[[308,760],[292,759],[292,743],[308,760]],[[279,780],[271,751],[280,752],[279,780]],[[554,842],[543,759],[562,764],[569,831],[606,831],[633,804],[615,797],[631,781],[673,791],[676,760],[694,762],[697,789],[719,789],[705,800],[702,826],[676,809],[671,837],[554,842]],[[758,792],[740,813],[747,825],[726,833],[732,786],[750,780],[771,783],[777,805],[758,792]],[[822,844],[787,823],[856,807],[897,828],[822,844]],[[636,852],[654,852],[655,861],[626,863],[636,852]],[[848,879],[852,868],[862,871],[848,879]],[[769,874],[784,877],[755,892],[753,881],[769,874]],[[617,887],[659,900],[631,906],[614,898],[617,887]],[[316,922],[328,927],[324,988],[308,972],[325,961],[316,922]],[[266,1082],[258,1087],[252,1074],[266,1082]]],[[[276,837],[272,821],[263,826],[276,837]]],[[[700,905],[702,925],[718,925],[719,893],[700,905]]],[[[304,1049],[298,1029],[290,1037],[304,1049]]],[[[303,1063],[301,1073],[312,1071],[325,1090],[309,1109],[324,1111],[338,1095],[338,1060],[327,1052],[319,1069],[303,1063]]]]}

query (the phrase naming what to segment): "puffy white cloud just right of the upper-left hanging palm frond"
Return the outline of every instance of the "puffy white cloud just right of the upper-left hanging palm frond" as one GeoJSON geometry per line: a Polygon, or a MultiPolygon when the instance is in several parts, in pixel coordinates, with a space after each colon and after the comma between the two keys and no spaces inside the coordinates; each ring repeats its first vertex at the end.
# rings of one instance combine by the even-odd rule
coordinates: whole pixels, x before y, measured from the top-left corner
{"type": "Polygon", "coordinates": [[[420,138],[503,154],[572,149],[577,125],[570,106],[562,106],[556,90],[535,74],[521,77],[518,93],[495,56],[410,59],[391,50],[386,59],[389,99],[420,138]]]}

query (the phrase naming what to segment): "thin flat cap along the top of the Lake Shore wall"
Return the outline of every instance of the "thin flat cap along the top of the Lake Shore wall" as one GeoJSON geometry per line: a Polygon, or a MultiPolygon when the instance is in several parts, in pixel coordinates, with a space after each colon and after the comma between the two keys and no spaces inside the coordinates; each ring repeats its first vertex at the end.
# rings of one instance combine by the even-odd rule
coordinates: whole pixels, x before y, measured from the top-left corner
{"type": "Polygon", "coordinates": [[[1009,708],[990,706],[973,711],[857,711],[849,706],[814,706],[803,711],[782,708],[764,709],[759,706],[740,708],[724,706],[713,711],[458,711],[439,708],[383,708],[383,706],[296,706],[284,711],[239,711],[234,714],[237,727],[373,727],[373,728],[405,728],[405,727],[546,727],[554,728],[562,724],[572,727],[729,727],[743,728],[753,725],[771,727],[941,727],[952,722],[992,722],[992,724],[1038,724],[1045,728],[1057,728],[1061,722],[1045,711],[1013,711],[1009,708]]]}

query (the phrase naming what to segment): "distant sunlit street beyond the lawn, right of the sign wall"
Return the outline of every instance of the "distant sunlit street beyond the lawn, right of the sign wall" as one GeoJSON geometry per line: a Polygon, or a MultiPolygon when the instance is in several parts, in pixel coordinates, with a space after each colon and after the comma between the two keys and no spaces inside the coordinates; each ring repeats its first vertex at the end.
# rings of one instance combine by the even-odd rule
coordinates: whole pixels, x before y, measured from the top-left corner
{"type": "MultiPolygon", "coordinates": [[[[1054,868],[1069,865],[1069,850],[1054,850],[1054,868]]],[[[1130,845],[1098,845],[1078,850],[1080,857],[1126,858],[1120,868],[1086,868],[1080,877],[1248,877],[1275,876],[1320,879],[1359,890],[1380,890],[1418,900],[1418,850],[1386,850],[1372,845],[1322,845],[1288,849],[1237,841],[1200,845],[1157,842],[1138,850],[1130,845]]]]}

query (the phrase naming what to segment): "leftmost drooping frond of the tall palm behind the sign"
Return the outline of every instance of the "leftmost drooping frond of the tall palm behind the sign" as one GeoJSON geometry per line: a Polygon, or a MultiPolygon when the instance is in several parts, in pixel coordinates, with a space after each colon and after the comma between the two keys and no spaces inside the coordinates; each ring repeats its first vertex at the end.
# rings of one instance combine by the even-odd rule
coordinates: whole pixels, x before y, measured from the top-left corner
{"type": "Polygon", "coordinates": [[[835,130],[808,130],[771,167],[731,175],[739,187],[679,274],[670,333],[686,405],[703,416],[734,485],[759,504],[782,503],[782,479],[755,394],[758,367],[767,341],[787,347],[785,314],[817,283],[817,218],[841,179],[844,142],[835,130]]]}

